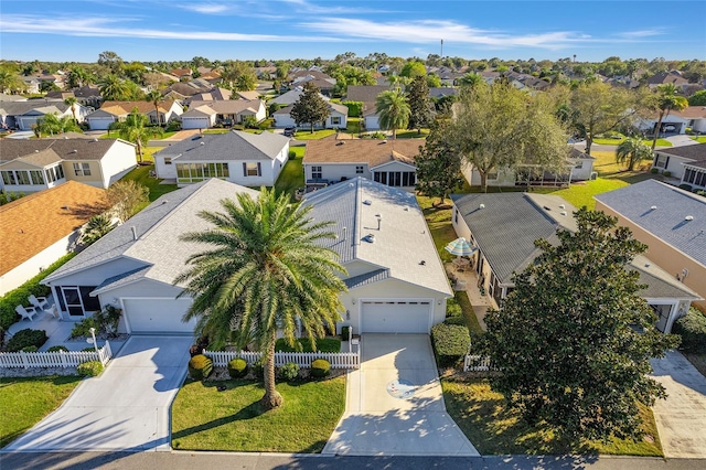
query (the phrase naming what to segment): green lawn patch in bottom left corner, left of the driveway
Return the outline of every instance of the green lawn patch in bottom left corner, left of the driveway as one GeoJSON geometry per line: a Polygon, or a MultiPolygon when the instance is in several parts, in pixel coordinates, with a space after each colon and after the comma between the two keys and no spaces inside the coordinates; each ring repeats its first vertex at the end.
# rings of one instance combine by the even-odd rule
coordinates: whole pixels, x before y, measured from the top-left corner
{"type": "Polygon", "coordinates": [[[0,448],[56,409],[79,382],[75,375],[0,378],[0,448]]]}

